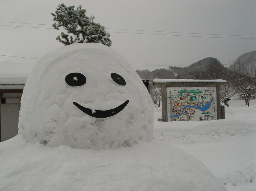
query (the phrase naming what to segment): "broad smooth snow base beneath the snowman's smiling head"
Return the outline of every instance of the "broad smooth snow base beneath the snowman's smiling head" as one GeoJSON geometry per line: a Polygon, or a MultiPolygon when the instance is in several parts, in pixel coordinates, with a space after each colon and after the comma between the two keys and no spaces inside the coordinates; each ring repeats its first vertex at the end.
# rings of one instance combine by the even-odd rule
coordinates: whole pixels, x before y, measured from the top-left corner
{"type": "Polygon", "coordinates": [[[94,150],[16,136],[0,152],[4,191],[226,191],[197,158],[158,140],[94,150]]]}

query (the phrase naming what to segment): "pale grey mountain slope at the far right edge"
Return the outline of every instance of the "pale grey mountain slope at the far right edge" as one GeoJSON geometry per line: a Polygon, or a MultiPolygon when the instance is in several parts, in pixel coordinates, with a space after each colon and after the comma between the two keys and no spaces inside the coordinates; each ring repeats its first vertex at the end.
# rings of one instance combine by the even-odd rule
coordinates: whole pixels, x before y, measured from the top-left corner
{"type": "Polygon", "coordinates": [[[237,67],[238,64],[240,64],[241,70],[244,73],[247,73],[249,71],[250,76],[256,76],[256,51],[252,51],[249,53],[245,53],[241,56],[239,56],[235,62],[229,67],[230,69],[233,69],[233,67],[237,67]]]}

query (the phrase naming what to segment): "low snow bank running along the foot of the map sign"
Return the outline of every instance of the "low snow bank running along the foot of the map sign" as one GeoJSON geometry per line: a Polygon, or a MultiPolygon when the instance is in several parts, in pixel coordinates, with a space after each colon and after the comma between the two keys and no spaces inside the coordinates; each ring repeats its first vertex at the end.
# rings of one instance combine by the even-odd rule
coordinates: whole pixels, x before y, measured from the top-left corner
{"type": "Polygon", "coordinates": [[[154,137],[166,142],[186,144],[216,142],[229,136],[245,136],[255,133],[254,121],[214,120],[195,122],[154,122],[154,137]]]}

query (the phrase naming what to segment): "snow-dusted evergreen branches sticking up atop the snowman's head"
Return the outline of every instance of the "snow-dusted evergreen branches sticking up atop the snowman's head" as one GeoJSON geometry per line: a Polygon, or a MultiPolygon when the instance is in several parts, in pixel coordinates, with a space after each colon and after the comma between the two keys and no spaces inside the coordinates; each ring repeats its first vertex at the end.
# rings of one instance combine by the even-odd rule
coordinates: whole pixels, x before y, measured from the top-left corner
{"type": "Polygon", "coordinates": [[[59,27],[63,27],[67,30],[67,34],[62,32],[56,40],[64,45],[74,42],[96,42],[111,46],[110,35],[105,31],[105,27],[93,22],[94,16],[86,16],[86,10],[82,9],[81,5],[76,10],[74,7],[74,5],[67,7],[64,4],[59,4],[55,14],[51,13],[55,21],[52,24],[54,29],[59,30],[59,27]]]}

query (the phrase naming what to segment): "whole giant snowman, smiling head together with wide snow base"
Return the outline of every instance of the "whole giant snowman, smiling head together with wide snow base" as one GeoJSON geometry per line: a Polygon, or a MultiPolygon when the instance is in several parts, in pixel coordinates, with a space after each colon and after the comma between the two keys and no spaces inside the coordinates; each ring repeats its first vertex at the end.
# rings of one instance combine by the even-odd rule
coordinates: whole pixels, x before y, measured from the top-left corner
{"type": "Polygon", "coordinates": [[[197,158],[147,141],[147,89],[110,47],[43,56],[21,101],[19,135],[0,143],[1,191],[226,191],[197,158]]]}

